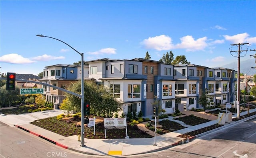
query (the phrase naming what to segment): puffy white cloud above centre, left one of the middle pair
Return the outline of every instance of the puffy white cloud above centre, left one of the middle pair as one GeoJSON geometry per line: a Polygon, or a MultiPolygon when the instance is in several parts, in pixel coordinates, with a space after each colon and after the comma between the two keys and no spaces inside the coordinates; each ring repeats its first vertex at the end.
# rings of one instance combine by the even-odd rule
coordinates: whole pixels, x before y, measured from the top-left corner
{"type": "Polygon", "coordinates": [[[172,38],[167,35],[149,37],[141,42],[146,49],[156,49],[158,51],[169,50],[173,48],[172,38]]]}

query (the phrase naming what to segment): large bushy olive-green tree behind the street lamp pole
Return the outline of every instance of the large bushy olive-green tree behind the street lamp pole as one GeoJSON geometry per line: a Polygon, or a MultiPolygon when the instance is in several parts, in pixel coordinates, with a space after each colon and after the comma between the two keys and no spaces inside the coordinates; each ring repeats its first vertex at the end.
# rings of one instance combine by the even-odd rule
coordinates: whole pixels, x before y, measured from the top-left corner
{"type": "MultiPolygon", "coordinates": [[[[80,94],[81,81],[72,83],[67,90],[80,94]]],[[[67,94],[66,98],[77,111],[81,111],[81,100],[77,96],[67,94]]],[[[112,117],[111,113],[120,111],[120,105],[103,85],[97,85],[93,81],[84,82],[84,102],[90,103],[90,113],[98,116],[112,117]]]]}

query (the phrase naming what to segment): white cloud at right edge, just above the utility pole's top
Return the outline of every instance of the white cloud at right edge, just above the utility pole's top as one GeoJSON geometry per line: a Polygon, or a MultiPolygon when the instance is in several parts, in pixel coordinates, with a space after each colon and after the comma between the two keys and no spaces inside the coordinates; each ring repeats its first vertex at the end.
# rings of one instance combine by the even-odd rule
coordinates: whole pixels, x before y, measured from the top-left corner
{"type": "MultiPolygon", "coordinates": [[[[246,43],[249,41],[254,41],[256,43],[255,38],[256,37],[249,37],[250,35],[248,33],[240,33],[240,34],[236,34],[233,36],[230,35],[223,35],[223,37],[227,40],[227,41],[231,41],[232,43],[246,43]]],[[[254,43],[253,42],[253,43],[254,43]]]]}

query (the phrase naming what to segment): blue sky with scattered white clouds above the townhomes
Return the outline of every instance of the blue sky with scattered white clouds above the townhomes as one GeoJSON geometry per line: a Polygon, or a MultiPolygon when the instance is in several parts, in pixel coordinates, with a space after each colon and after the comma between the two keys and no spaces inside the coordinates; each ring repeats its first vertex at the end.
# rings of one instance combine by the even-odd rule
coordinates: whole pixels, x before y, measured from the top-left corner
{"type": "Polygon", "coordinates": [[[37,34],[68,43],[85,61],[144,58],[147,51],[158,61],[172,51],[192,64],[222,66],[237,61],[230,49],[238,47],[231,44],[256,48],[255,8],[254,0],[1,0],[0,72],[37,75],[45,66],[81,60],[64,43],[37,34]]]}

